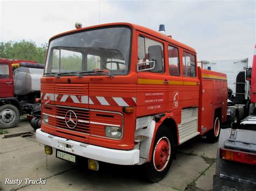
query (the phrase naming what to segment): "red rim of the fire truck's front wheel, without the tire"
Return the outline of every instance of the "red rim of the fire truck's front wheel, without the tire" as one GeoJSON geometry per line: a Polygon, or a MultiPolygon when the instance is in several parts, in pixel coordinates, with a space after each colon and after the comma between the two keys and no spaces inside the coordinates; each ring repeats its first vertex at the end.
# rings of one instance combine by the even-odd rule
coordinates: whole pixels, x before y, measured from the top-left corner
{"type": "Polygon", "coordinates": [[[153,163],[157,171],[163,171],[167,166],[171,154],[171,144],[167,137],[158,140],[154,147],[153,163]]]}

